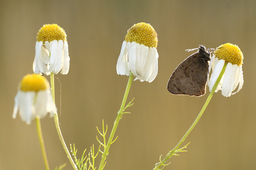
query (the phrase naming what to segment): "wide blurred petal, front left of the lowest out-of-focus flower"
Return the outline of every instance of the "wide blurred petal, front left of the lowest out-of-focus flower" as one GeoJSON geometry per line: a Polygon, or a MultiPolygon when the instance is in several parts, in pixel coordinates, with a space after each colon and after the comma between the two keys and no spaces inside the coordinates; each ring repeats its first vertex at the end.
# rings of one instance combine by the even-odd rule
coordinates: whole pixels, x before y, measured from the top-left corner
{"type": "Polygon", "coordinates": [[[32,91],[20,92],[20,97],[19,97],[20,119],[26,122],[26,124],[30,124],[31,119],[35,118],[35,107],[33,105],[34,99],[35,99],[35,92],[32,92],[32,91]]]}

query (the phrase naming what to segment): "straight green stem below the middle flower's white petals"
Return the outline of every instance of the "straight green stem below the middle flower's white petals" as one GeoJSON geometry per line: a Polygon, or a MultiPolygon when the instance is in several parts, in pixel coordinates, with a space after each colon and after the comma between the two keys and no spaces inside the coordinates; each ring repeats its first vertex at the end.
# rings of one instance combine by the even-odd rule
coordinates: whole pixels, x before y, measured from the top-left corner
{"type": "Polygon", "coordinates": [[[125,90],[125,94],[124,94],[124,97],[123,97],[123,100],[122,100],[122,104],[121,104],[121,107],[120,107],[120,110],[117,112],[117,117],[116,117],[116,120],[114,122],[114,125],[113,125],[113,129],[111,131],[111,134],[109,136],[109,139],[108,139],[108,143],[107,143],[107,146],[106,148],[104,149],[104,153],[102,154],[102,160],[100,161],[100,164],[99,164],[99,170],[102,170],[103,167],[104,167],[104,164],[105,164],[105,159],[106,159],[106,156],[108,154],[108,150],[110,148],[110,145],[112,143],[112,140],[113,140],[113,137],[114,137],[114,134],[116,132],[116,128],[117,128],[117,125],[119,123],[119,120],[121,119],[122,117],[122,112],[125,108],[125,102],[126,102],[126,99],[127,99],[127,96],[129,94],[129,90],[131,88],[131,82],[132,82],[132,78],[133,78],[133,74],[130,75],[129,79],[128,79],[128,83],[127,83],[127,86],[126,86],[126,90],[125,90]]]}

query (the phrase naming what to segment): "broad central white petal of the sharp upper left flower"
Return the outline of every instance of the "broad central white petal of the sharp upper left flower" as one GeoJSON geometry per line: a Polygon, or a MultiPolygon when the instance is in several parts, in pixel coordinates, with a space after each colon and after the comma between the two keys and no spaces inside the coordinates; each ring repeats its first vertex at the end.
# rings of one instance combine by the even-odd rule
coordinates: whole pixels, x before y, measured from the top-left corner
{"type": "Polygon", "coordinates": [[[58,41],[53,40],[50,42],[50,67],[49,72],[53,72],[57,67],[58,62],[58,41]]]}

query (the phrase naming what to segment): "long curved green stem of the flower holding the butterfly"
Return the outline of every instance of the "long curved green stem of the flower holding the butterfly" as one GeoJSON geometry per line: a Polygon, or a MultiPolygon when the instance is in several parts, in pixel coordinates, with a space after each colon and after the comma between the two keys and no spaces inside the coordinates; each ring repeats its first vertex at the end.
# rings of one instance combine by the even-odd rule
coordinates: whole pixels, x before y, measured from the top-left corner
{"type": "Polygon", "coordinates": [[[212,88],[211,93],[209,94],[206,102],[204,103],[203,108],[201,109],[200,113],[198,114],[197,118],[195,119],[195,121],[192,123],[192,125],[189,127],[189,129],[186,131],[185,135],[180,139],[180,142],[177,143],[177,145],[166,155],[166,157],[163,159],[163,161],[160,162],[160,164],[158,164],[153,170],[157,170],[160,169],[160,167],[167,161],[167,159],[169,159],[173,153],[178,149],[178,147],[180,147],[180,145],[182,144],[182,142],[184,142],[184,140],[186,139],[186,137],[189,135],[189,133],[192,131],[192,129],[195,127],[195,125],[197,124],[197,122],[199,121],[199,119],[201,118],[201,116],[203,115],[208,103],[210,102],[212,95],[214,94],[219,82],[221,81],[221,78],[225,72],[225,69],[227,67],[227,62],[225,62],[220,75],[218,76],[218,79],[215,82],[215,85],[212,88]]]}

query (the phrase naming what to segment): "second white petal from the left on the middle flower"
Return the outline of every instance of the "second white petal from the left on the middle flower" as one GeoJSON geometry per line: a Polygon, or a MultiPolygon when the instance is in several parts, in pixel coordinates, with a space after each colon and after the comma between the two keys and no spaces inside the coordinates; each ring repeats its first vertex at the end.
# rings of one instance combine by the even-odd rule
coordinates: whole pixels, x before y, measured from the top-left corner
{"type": "Polygon", "coordinates": [[[137,77],[136,72],[136,58],[137,58],[137,43],[131,42],[131,46],[127,49],[128,50],[128,65],[131,73],[137,77]]]}

